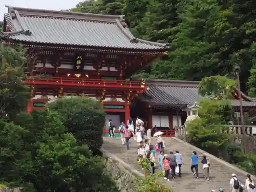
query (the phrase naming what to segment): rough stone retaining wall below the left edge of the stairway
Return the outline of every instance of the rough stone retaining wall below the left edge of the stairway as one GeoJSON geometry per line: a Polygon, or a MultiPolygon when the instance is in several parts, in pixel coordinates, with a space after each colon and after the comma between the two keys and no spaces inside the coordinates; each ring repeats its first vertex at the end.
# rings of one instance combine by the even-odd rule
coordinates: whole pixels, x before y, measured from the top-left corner
{"type": "Polygon", "coordinates": [[[112,175],[120,192],[136,192],[136,177],[144,177],[144,175],[115,155],[103,149],[101,149],[101,152],[105,158],[106,168],[112,175]]]}

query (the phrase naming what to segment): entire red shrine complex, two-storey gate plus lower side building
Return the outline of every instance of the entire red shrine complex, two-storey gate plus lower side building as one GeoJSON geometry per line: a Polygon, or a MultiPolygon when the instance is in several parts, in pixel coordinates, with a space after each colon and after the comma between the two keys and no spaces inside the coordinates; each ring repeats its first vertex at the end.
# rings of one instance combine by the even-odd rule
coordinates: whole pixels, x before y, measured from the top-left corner
{"type": "MultiPolygon", "coordinates": [[[[57,97],[86,95],[102,102],[106,121],[118,125],[131,111],[146,127],[174,136],[174,127],[187,118],[182,109],[200,101],[198,81],[127,80],[168,47],[135,38],[122,16],[8,6],[0,36],[8,45],[27,47],[32,58],[28,112],[57,97]]],[[[242,96],[245,113],[255,115],[255,99],[242,96]]],[[[239,111],[236,94],[232,103],[239,111]]]]}

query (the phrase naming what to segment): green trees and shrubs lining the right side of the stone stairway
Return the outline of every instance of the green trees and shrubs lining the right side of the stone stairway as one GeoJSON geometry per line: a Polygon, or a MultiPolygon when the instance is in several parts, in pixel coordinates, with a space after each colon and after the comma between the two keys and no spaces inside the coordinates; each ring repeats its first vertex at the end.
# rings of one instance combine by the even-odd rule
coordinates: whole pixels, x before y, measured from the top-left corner
{"type": "Polygon", "coordinates": [[[255,152],[244,154],[240,144],[234,142],[234,137],[228,134],[229,126],[225,126],[233,114],[228,98],[233,90],[230,87],[234,84],[233,80],[222,76],[202,79],[200,93],[211,97],[200,102],[200,118],[187,124],[187,136],[191,144],[256,175],[255,152]]]}

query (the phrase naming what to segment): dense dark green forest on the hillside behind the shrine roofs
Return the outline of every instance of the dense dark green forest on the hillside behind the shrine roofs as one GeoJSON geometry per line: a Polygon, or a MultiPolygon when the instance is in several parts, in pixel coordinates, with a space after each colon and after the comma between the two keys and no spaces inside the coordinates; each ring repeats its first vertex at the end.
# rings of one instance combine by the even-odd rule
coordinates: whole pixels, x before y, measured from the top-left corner
{"type": "Polygon", "coordinates": [[[230,75],[237,63],[245,91],[255,87],[247,84],[255,63],[255,9],[253,0],[90,0],[71,10],[123,14],[136,37],[170,43],[169,54],[136,77],[201,80],[230,75]]]}

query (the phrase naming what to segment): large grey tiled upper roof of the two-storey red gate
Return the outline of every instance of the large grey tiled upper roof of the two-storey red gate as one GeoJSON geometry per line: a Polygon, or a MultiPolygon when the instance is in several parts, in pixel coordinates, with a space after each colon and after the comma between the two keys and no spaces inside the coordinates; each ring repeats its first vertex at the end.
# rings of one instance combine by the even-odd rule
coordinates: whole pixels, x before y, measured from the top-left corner
{"type": "Polygon", "coordinates": [[[123,16],[36,10],[7,6],[9,33],[22,42],[135,50],[167,50],[167,44],[135,38],[123,16]]]}

